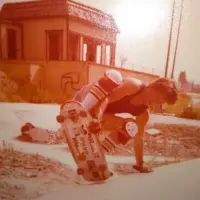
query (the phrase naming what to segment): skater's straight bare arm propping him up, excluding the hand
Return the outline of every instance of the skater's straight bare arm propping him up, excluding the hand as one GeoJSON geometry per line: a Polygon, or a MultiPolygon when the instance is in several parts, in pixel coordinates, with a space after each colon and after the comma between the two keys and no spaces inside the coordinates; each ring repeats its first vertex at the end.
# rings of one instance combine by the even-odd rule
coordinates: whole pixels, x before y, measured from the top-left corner
{"type": "Polygon", "coordinates": [[[134,150],[136,157],[136,165],[141,166],[143,164],[144,157],[144,128],[149,120],[149,113],[145,111],[140,116],[136,117],[136,123],[138,125],[138,133],[134,138],[134,150]]]}

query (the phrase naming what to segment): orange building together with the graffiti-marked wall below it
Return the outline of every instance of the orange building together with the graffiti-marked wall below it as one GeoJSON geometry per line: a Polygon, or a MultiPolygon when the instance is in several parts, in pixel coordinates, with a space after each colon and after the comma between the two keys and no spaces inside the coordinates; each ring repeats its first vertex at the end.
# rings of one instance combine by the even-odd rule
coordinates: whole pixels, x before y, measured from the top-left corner
{"type": "Polygon", "coordinates": [[[115,66],[113,17],[71,0],[5,3],[0,11],[0,70],[18,83],[73,95],[106,69],[145,82],[158,76],[115,66]]]}

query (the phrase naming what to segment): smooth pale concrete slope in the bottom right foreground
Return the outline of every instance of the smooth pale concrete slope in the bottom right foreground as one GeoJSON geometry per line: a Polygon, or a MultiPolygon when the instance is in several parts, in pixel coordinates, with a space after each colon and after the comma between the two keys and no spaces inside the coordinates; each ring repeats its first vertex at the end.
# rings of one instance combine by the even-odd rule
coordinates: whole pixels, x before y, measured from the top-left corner
{"type": "Polygon", "coordinates": [[[157,168],[151,174],[118,176],[105,184],[66,185],[38,200],[199,200],[200,159],[157,168]]]}

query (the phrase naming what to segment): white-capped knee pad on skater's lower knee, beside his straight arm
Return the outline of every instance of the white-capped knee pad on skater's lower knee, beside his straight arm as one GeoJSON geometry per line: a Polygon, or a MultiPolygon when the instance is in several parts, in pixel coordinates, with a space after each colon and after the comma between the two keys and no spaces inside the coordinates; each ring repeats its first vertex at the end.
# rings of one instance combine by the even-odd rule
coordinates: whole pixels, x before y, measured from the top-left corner
{"type": "Polygon", "coordinates": [[[124,123],[122,130],[119,131],[119,141],[125,145],[127,142],[134,138],[138,132],[138,127],[133,119],[130,119],[124,123]]]}

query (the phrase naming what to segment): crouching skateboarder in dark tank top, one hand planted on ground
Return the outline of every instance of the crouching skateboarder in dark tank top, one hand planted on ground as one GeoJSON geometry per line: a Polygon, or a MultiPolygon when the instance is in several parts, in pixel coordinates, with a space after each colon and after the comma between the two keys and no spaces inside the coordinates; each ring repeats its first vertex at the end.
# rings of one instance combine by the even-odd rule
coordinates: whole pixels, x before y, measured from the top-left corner
{"type": "MultiPolygon", "coordinates": [[[[143,160],[143,136],[149,120],[148,109],[156,104],[174,104],[177,95],[174,83],[168,79],[159,78],[144,85],[138,79],[122,77],[118,71],[108,70],[104,76],[78,91],[73,100],[81,102],[93,116],[90,125],[93,133],[102,128],[111,130],[109,138],[115,144],[125,145],[133,139],[136,158],[133,168],[141,173],[148,173],[152,169],[143,160]],[[135,120],[117,117],[116,114],[119,113],[128,113],[135,120]]],[[[109,150],[106,144],[103,143],[102,146],[109,150]]]]}

